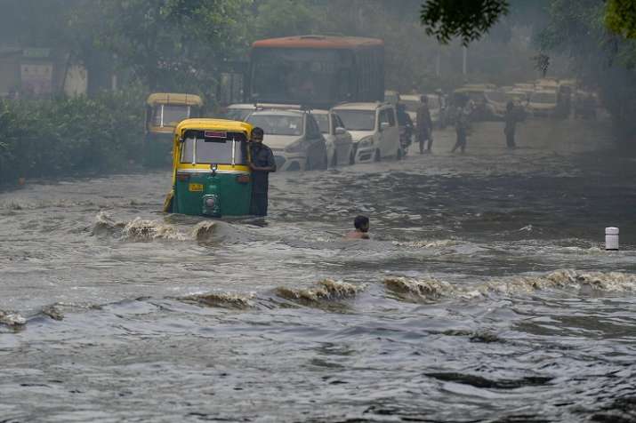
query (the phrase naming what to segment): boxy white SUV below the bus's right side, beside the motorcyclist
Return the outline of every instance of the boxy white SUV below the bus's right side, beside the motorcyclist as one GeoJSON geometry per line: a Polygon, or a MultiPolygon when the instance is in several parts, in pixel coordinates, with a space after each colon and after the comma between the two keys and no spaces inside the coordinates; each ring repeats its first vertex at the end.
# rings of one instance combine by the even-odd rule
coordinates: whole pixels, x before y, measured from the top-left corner
{"type": "Polygon", "coordinates": [[[355,163],[401,159],[398,116],[390,103],[344,103],[333,108],[353,138],[355,163]]]}

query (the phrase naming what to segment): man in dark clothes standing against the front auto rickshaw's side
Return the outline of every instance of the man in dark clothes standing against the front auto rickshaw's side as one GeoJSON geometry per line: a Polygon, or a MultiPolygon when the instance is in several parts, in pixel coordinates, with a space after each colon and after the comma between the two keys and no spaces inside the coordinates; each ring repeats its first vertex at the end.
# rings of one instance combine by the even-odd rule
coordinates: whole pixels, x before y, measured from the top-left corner
{"type": "Polygon", "coordinates": [[[276,172],[276,162],[271,148],[262,143],[262,128],[252,130],[250,144],[250,169],[252,169],[252,214],[267,216],[267,194],[270,188],[270,172],[276,172]]]}

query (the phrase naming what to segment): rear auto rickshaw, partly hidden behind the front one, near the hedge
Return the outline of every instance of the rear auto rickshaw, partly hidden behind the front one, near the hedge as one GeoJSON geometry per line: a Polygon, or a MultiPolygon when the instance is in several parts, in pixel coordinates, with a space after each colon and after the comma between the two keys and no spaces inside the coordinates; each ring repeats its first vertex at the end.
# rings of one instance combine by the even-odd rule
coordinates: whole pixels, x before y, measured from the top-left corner
{"type": "Polygon", "coordinates": [[[146,137],[144,163],[148,166],[170,164],[174,128],[183,119],[199,117],[203,100],[194,94],[156,92],[146,100],[146,137]]]}

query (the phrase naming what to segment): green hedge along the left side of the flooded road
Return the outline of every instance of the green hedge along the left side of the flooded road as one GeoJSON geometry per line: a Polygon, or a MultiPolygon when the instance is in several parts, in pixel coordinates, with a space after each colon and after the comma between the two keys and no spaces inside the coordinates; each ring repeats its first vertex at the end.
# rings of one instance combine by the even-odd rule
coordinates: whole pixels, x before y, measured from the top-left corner
{"type": "Polygon", "coordinates": [[[144,95],[0,101],[0,184],[93,172],[141,161],[144,95]]]}

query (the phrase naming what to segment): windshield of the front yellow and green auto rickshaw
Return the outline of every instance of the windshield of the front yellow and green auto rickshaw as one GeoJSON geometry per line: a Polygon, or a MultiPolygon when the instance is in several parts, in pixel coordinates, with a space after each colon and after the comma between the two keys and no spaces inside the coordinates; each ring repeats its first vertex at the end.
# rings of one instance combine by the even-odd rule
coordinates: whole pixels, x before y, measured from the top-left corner
{"type": "Polygon", "coordinates": [[[241,140],[209,140],[189,134],[181,148],[181,163],[245,164],[245,153],[246,143],[241,140]]]}

